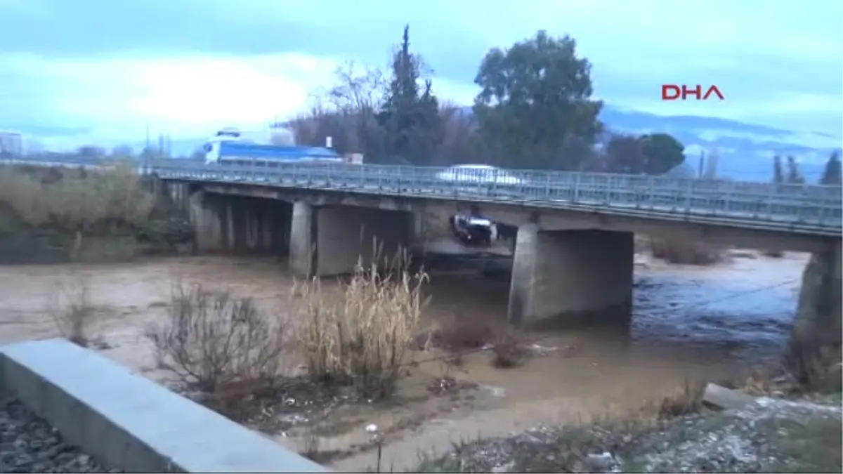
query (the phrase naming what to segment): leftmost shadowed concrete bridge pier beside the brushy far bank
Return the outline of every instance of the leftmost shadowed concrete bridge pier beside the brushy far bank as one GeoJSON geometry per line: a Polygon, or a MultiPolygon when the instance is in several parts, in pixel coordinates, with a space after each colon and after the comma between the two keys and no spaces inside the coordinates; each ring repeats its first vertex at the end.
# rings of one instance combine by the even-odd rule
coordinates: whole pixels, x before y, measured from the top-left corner
{"type": "Polygon", "coordinates": [[[188,201],[198,252],[287,254],[292,214],[287,202],[205,191],[188,201]]]}

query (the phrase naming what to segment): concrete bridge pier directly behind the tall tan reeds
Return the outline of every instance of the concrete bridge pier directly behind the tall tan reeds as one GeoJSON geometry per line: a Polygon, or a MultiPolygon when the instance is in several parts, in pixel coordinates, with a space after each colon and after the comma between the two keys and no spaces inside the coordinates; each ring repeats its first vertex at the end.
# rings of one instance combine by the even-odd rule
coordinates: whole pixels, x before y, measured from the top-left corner
{"type": "Polygon", "coordinates": [[[373,207],[293,204],[290,267],[306,276],[334,276],[364,266],[388,265],[411,243],[413,213],[373,207]]]}

